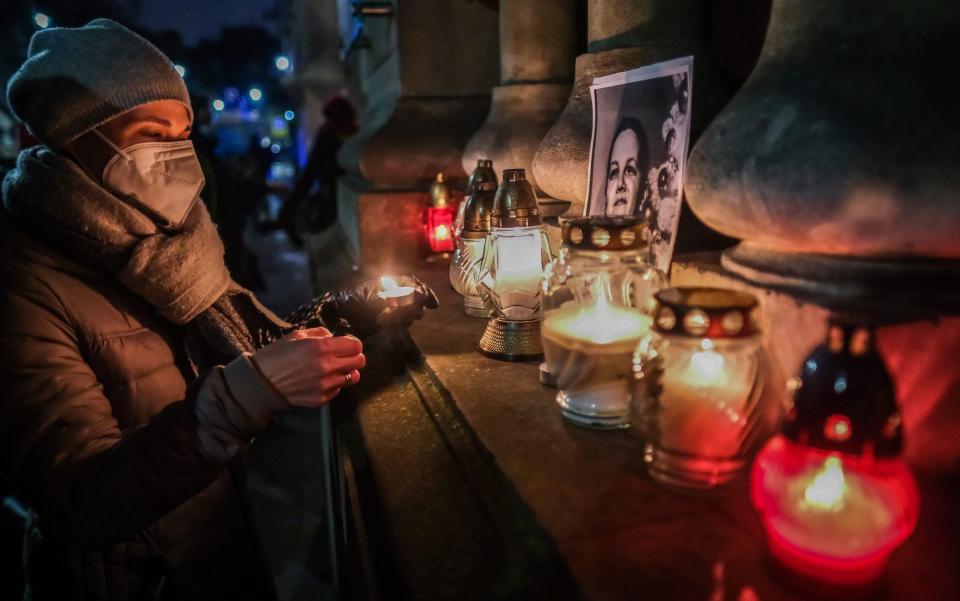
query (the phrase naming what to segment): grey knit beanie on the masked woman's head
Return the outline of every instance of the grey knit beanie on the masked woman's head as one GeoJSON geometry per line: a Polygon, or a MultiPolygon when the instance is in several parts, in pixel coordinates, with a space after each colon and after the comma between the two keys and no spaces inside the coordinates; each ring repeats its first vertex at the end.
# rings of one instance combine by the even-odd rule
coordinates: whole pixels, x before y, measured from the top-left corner
{"type": "Polygon", "coordinates": [[[10,108],[55,150],[156,100],[179,100],[191,110],[187,86],[170,59],[110,19],[33,34],[26,62],[7,84],[10,108]]]}

